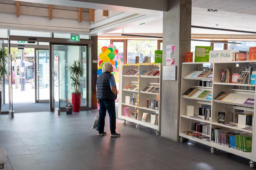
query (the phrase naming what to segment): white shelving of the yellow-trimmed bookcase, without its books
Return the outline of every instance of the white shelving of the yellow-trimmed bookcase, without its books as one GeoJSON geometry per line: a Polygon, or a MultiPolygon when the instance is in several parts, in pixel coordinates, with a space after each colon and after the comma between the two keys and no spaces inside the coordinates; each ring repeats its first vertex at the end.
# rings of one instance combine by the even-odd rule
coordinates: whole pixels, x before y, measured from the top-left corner
{"type": "MultiPolygon", "coordinates": [[[[118,107],[118,118],[123,119],[124,122],[130,121],[136,124],[136,128],[139,128],[140,125],[152,128],[156,131],[156,134],[159,135],[161,132],[161,65],[160,64],[153,64],[153,63],[142,63],[142,64],[123,64],[122,69],[119,76],[119,106],[118,107]],[[131,69],[139,70],[139,75],[124,75],[131,69]],[[150,76],[150,75],[141,75],[144,71],[150,71],[153,69],[159,69],[160,75],[150,76]],[[138,90],[129,90],[125,87],[131,83],[138,84],[138,90]],[[158,87],[159,92],[147,92],[142,91],[146,86],[158,87]],[[133,93],[138,94],[138,101],[137,105],[126,104],[125,98],[127,96],[132,96],[133,93]],[[158,100],[158,108],[149,108],[146,107],[146,99],[150,100],[158,100]],[[124,116],[124,108],[130,108],[130,114],[134,113],[134,110],[137,108],[137,118],[130,116],[124,116]],[[148,113],[148,119],[151,119],[151,115],[158,114],[158,125],[151,123],[149,121],[142,121],[143,113],[148,113]]],[[[150,104],[149,103],[149,104],[150,104]]]]}

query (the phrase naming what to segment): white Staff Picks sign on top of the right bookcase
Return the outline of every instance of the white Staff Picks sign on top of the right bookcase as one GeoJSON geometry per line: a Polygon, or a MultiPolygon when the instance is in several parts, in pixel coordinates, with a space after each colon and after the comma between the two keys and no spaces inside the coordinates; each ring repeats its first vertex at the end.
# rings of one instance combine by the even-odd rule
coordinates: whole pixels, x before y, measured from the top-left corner
{"type": "Polygon", "coordinates": [[[232,61],[232,49],[211,50],[209,53],[209,62],[232,61]]]}

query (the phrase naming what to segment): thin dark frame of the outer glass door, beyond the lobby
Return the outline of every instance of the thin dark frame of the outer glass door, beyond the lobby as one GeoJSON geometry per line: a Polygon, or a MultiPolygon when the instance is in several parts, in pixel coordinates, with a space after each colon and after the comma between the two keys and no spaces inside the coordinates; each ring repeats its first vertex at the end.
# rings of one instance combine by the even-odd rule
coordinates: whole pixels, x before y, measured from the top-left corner
{"type": "MultiPolygon", "coordinates": [[[[37,50],[49,50],[49,48],[34,48],[34,52],[35,52],[35,103],[49,103],[50,102],[50,99],[49,100],[37,100],[37,59],[38,59],[38,53],[37,53],[37,50]]],[[[50,53],[50,51],[49,51],[50,53]]],[[[50,58],[49,58],[50,60],[50,58]]],[[[49,63],[49,69],[50,68],[50,63],[49,63]]],[[[50,82],[50,80],[49,80],[50,82]]],[[[49,88],[50,88],[50,84],[49,84],[49,88]]],[[[50,95],[50,93],[49,93],[50,95]]],[[[51,96],[50,96],[51,98],[51,96]]]]}

